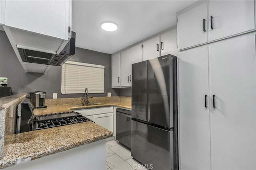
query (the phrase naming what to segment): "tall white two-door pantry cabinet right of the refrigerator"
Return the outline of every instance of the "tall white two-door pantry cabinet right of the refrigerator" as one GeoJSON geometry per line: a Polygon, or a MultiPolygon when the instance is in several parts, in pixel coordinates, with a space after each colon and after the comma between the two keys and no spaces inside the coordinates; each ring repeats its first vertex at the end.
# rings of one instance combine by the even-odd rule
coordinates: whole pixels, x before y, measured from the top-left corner
{"type": "Polygon", "coordinates": [[[255,51],[250,34],[178,53],[181,170],[256,169],[255,51]]]}

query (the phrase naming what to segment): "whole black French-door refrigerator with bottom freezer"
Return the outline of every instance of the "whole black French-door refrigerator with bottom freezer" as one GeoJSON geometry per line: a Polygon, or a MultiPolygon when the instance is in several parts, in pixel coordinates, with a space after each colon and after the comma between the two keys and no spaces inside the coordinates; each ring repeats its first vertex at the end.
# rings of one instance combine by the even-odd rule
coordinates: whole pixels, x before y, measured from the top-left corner
{"type": "Polygon", "coordinates": [[[132,65],[132,157],[153,170],[178,170],[177,57],[132,65]]]}

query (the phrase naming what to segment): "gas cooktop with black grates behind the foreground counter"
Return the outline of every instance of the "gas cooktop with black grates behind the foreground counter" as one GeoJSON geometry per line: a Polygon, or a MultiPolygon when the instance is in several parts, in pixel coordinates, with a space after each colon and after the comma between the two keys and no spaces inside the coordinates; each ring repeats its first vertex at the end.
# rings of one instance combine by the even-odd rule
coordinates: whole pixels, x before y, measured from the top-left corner
{"type": "Polygon", "coordinates": [[[77,112],[61,112],[35,116],[35,130],[90,121],[77,112]]]}

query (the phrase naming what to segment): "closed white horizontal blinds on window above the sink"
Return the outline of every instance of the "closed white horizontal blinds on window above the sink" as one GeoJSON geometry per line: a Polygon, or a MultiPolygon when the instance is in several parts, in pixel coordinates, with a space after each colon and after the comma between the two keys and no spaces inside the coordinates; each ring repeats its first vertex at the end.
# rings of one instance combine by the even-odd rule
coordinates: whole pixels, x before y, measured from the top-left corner
{"type": "Polygon", "coordinates": [[[67,61],[61,66],[61,93],[104,93],[104,65],[67,61]]]}

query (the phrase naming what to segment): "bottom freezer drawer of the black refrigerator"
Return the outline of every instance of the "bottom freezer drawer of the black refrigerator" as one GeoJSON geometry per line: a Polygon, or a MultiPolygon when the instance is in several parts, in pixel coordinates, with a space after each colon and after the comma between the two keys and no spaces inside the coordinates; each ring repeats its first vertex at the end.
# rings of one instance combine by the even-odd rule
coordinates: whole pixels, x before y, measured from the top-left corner
{"type": "Polygon", "coordinates": [[[152,170],[174,170],[173,131],[132,120],[132,157],[152,170]]]}

